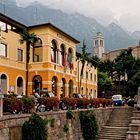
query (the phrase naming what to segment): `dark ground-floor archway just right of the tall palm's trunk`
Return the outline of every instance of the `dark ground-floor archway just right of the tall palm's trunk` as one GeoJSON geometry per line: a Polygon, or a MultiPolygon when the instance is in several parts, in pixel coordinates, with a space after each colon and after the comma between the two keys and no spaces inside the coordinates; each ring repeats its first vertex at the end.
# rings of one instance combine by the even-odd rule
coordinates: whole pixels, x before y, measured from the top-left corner
{"type": "Polygon", "coordinates": [[[33,92],[37,92],[39,95],[41,95],[42,91],[42,78],[40,75],[36,75],[33,78],[33,92]]]}

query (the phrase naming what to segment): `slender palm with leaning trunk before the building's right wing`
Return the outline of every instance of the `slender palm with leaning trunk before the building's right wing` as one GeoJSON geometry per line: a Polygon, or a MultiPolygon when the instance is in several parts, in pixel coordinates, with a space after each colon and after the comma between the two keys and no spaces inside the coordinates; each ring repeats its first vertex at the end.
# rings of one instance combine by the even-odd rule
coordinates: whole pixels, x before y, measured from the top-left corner
{"type": "Polygon", "coordinates": [[[85,63],[86,63],[87,60],[89,60],[89,55],[90,55],[90,53],[87,53],[86,44],[83,41],[82,53],[81,53],[81,56],[80,56],[80,61],[82,63],[82,67],[81,67],[81,72],[80,72],[80,86],[78,88],[79,93],[81,92],[81,83],[82,83],[82,77],[83,77],[85,63]]]}

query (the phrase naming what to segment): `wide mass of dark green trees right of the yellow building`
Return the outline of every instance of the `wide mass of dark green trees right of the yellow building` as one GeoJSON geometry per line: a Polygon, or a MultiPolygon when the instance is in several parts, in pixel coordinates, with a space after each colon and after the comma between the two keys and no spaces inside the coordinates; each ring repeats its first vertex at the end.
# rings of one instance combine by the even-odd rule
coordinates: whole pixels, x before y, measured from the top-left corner
{"type": "Polygon", "coordinates": [[[135,94],[134,89],[138,86],[135,75],[138,74],[139,69],[140,59],[132,55],[131,48],[123,50],[113,61],[101,61],[99,65],[99,70],[105,72],[113,81],[113,91],[110,92],[116,92],[116,94],[121,92],[124,96],[135,94]]]}

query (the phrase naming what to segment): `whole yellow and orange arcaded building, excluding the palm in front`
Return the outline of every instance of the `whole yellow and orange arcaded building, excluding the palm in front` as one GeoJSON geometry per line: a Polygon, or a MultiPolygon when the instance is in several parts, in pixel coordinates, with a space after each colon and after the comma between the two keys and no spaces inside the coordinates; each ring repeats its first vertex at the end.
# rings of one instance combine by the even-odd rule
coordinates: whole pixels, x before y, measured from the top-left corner
{"type": "MultiPolygon", "coordinates": [[[[26,43],[20,44],[19,41],[25,28],[38,38],[34,47],[30,48],[28,94],[53,91],[58,97],[70,97],[77,92],[78,40],[50,23],[26,27],[2,14],[0,27],[0,86],[3,93],[26,92],[26,43]]],[[[94,67],[85,69],[90,71],[89,77],[97,77],[94,67]]],[[[97,80],[94,78],[84,78],[82,88],[83,94],[87,89],[87,93],[97,97],[97,80]]]]}

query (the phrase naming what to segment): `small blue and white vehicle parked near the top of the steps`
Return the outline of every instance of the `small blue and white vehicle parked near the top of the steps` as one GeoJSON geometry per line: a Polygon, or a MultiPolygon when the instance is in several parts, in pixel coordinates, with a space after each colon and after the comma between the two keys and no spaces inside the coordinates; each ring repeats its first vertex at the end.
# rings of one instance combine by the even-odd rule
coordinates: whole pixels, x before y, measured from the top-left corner
{"type": "Polygon", "coordinates": [[[120,94],[113,95],[112,96],[112,100],[113,100],[114,106],[122,106],[122,105],[124,105],[124,101],[122,99],[122,95],[120,95],[120,94]]]}

